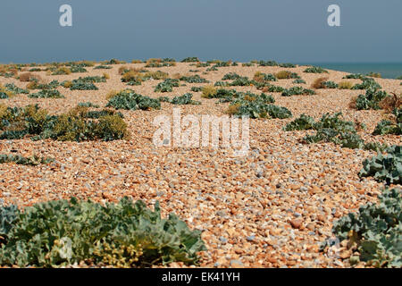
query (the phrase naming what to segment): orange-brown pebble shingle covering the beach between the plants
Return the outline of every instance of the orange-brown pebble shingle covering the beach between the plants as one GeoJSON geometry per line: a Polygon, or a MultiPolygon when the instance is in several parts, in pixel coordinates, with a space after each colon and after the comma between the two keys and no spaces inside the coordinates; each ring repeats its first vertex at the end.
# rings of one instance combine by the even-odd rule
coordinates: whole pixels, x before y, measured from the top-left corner
{"type": "MultiPolygon", "coordinates": [[[[123,64],[140,67],[144,64],[123,64]]],[[[118,69],[92,70],[65,76],[46,76],[46,80],[72,80],[79,76],[102,75],[110,80],[96,83],[99,90],[71,91],[58,88],[65,98],[35,99],[26,95],[1,99],[11,106],[38,104],[51,114],[66,112],[80,102],[90,101],[105,106],[110,90],[132,88],[149,97],[180,96],[191,92],[189,84],[173,88],[171,93],[155,93],[162,80],[148,80],[130,87],[121,82],[118,69]]],[[[234,71],[253,78],[255,71],[273,73],[282,70],[297,72],[310,88],[319,77],[339,82],[346,72],[329,74],[303,72],[306,67],[222,67],[203,74],[205,68],[188,63],[174,67],[147,68],[166,71],[172,76],[199,74],[212,84],[234,71]],[[199,72],[189,72],[197,69],[199,72]]],[[[401,80],[375,79],[387,92],[400,93],[401,80]]],[[[295,86],[293,80],[272,82],[284,88],[295,86]]],[[[348,80],[353,83],[361,80],[348,80]]],[[[24,88],[25,82],[0,78],[0,83],[14,82],[24,88]]],[[[185,83],[180,81],[180,83],[185,83]]],[[[233,87],[239,91],[260,93],[255,87],[233,87]]],[[[314,96],[281,97],[269,93],[275,105],[286,106],[293,117],[286,120],[250,120],[250,152],[236,157],[230,149],[155,147],[152,124],[159,114],[172,115],[176,105],[162,104],[159,111],[121,111],[129,124],[129,141],[59,142],[30,139],[1,140],[0,154],[17,150],[22,156],[54,157],[48,165],[24,166],[0,164],[0,203],[29,206],[46,200],[91,198],[98,202],[116,201],[124,196],[143,199],[148,206],[161,202],[163,214],[174,212],[191,228],[203,231],[207,251],[201,254],[203,267],[342,267],[348,266],[341,248],[339,257],[318,251],[323,240],[331,238],[332,222],[356,211],[367,202],[376,201],[381,184],[372,178],[361,180],[357,173],[364,158],[374,152],[341,148],[331,143],[304,145],[300,139],[306,131],[283,131],[286,123],[299,114],[319,119],[322,114],[341,111],[350,121],[364,122],[360,131],[367,141],[400,144],[399,136],[373,136],[371,133],[383,116],[381,111],[356,111],[348,108],[351,97],[361,90],[317,89],[314,96]]],[[[182,114],[224,114],[228,104],[216,105],[216,99],[205,99],[192,92],[201,105],[180,105],[182,114]]],[[[171,266],[181,266],[172,264],[171,266]]]]}

